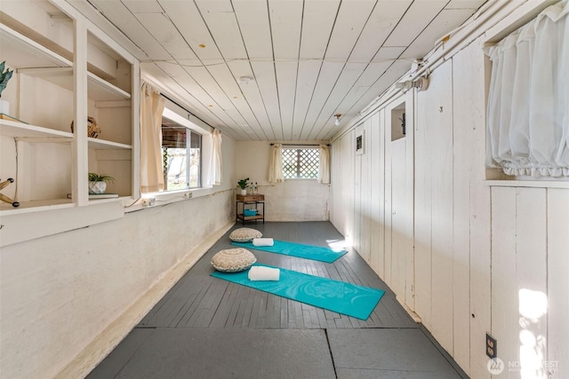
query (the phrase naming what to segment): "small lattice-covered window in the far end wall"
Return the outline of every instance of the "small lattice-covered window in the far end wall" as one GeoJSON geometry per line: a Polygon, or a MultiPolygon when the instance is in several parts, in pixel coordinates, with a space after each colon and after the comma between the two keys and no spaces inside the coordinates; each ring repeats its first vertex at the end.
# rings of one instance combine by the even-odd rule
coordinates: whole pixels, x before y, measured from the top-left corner
{"type": "Polygon", "coordinates": [[[283,176],[285,179],[316,179],[320,164],[318,149],[283,149],[283,176]]]}

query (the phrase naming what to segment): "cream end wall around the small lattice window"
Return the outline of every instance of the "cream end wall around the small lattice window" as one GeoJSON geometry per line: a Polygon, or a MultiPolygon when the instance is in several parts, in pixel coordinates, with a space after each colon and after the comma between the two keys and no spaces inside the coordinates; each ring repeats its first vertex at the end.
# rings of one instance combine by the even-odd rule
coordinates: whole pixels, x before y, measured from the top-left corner
{"type": "Polygon", "coordinates": [[[284,183],[270,185],[268,182],[270,147],[267,141],[236,142],[234,185],[237,186],[237,180],[244,178],[250,178],[250,181],[259,184],[259,193],[265,195],[266,221],[327,220],[329,185],[319,184],[316,179],[285,179],[284,183]]]}

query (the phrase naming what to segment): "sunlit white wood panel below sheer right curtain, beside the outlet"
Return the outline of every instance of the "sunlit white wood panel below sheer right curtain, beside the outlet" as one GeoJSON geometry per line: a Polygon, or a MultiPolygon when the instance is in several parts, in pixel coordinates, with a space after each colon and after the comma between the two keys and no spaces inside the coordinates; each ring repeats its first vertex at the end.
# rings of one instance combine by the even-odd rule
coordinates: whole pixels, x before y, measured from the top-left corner
{"type": "Polygon", "coordinates": [[[492,331],[508,377],[545,378],[547,316],[547,190],[492,190],[492,331]],[[528,369],[533,363],[536,367],[528,369]]]}

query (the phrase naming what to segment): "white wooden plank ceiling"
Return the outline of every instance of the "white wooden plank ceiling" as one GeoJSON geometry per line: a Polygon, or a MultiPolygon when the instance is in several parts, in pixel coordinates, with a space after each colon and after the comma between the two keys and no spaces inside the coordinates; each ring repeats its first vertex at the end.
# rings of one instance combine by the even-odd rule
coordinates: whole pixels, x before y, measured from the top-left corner
{"type": "Polygon", "coordinates": [[[327,140],[485,0],[88,0],[237,140],[327,140]],[[250,77],[250,83],[240,78],[250,77]]]}

